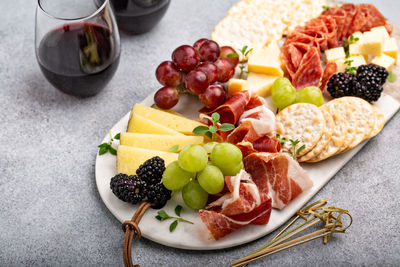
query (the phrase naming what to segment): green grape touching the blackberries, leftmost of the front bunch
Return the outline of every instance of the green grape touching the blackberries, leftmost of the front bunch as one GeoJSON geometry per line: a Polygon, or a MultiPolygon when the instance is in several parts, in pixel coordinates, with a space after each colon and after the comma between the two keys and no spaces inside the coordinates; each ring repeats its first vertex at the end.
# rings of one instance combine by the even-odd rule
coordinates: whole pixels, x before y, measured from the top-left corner
{"type": "Polygon", "coordinates": [[[194,178],[195,174],[187,172],[179,167],[178,161],[171,162],[163,173],[162,183],[165,188],[175,191],[180,190],[187,183],[190,182],[190,178],[194,178]]]}

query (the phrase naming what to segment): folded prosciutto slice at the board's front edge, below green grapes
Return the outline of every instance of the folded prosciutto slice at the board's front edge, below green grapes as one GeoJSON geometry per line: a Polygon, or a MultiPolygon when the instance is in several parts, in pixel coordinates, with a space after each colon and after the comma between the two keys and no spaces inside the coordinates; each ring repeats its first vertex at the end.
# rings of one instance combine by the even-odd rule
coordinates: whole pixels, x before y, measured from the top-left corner
{"type": "Polygon", "coordinates": [[[229,193],[200,210],[200,218],[211,236],[218,240],[248,224],[267,224],[271,199],[261,192],[250,175],[241,170],[236,176],[225,177],[229,193]]]}

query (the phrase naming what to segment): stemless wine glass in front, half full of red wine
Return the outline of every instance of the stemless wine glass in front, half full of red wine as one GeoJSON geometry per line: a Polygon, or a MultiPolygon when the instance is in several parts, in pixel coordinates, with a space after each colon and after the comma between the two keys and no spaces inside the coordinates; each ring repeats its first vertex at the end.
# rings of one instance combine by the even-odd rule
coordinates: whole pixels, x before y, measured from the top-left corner
{"type": "Polygon", "coordinates": [[[88,97],[113,77],[120,39],[109,0],[38,0],[36,58],[46,79],[64,93],[88,97]]]}

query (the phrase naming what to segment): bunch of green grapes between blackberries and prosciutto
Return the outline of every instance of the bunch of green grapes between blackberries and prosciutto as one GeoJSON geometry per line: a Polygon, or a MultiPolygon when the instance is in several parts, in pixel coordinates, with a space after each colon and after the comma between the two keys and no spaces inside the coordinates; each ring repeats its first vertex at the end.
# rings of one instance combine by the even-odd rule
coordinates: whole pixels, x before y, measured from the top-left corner
{"type": "Polygon", "coordinates": [[[242,157],[240,149],[230,143],[188,145],[179,153],[178,160],[167,166],[162,183],[171,191],[182,189],[186,205],[202,209],[208,194],[223,190],[224,176],[236,175],[243,169],[242,157]]]}

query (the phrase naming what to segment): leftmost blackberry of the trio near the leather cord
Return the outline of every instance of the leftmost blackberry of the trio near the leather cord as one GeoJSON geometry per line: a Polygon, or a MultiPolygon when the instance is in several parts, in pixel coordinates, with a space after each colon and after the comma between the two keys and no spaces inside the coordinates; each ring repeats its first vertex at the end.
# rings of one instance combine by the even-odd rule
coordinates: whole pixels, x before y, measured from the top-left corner
{"type": "Polygon", "coordinates": [[[120,173],[111,178],[110,182],[110,188],[114,195],[131,204],[137,204],[146,197],[146,187],[146,182],[136,175],[128,176],[120,173]]]}

